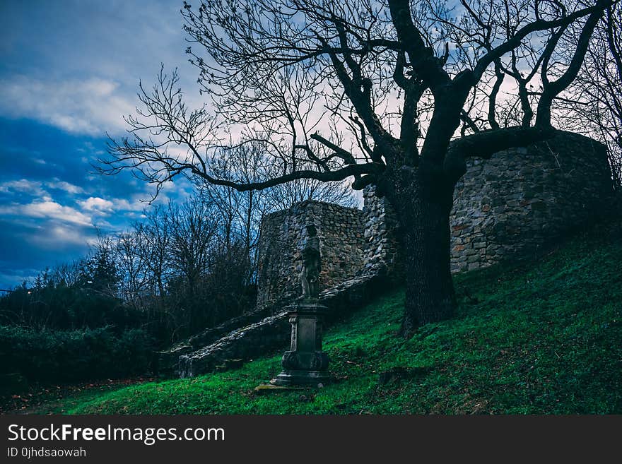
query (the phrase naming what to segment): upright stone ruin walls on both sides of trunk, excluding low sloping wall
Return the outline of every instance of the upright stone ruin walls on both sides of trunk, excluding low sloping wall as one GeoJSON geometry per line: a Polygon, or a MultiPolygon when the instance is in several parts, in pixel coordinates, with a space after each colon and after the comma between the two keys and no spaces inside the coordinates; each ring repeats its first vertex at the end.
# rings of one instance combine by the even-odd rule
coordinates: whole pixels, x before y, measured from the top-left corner
{"type": "MultiPolygon", "coordinates": [[[[604,146],[574,133],[467,163],[450,216],[452,272],[534,256],[602,215],[613,193],[604,146]]],[[[268,215],[259,244],[258,307],[300,295],[300,244],[315,218],[321,289],[360,275],[399,273],[397,221],[375,187],[363,210],[305,201],[268,215]]]]}

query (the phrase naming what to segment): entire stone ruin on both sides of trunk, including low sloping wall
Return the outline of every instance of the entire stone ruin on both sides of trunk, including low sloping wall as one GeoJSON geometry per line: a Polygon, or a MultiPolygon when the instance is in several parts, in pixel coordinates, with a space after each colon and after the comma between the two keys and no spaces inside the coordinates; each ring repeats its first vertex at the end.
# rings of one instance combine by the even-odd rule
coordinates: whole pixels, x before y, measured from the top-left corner
{"type": "MultiPolygon", "coordinates": [[[[608,213],[612,193],[604,147],[573,134],[497,153],[486,162],[471,160],[454,194],[452,271],[533,256],[608,213]]],[[[169,363],[171,371],[195,376],[288,343],[283,305],[300,295],[300,245],[307,221],[315,222],[320,239],[320,298],[329,307],[327,317],[347,314],[398,280],[395,215],[373,187],[363,198],[363,210],[306,201],[266,216],[259,242],[258,311],[238,319],[233,331],[229,323],[175,347],[166,358],[179,360],[169,363]],[[274,316],[259,321],[262,309],[274,316]]]]}

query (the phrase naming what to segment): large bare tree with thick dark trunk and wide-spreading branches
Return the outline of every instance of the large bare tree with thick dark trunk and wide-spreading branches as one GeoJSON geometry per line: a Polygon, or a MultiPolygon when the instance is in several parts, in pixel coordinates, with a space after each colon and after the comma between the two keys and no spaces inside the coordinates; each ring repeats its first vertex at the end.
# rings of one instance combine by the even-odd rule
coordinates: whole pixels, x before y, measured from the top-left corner
{"type": "Polygon", "coordinates": [[[574,80],[611,4],[463,0],[454,11],[436,0],[184,4],[187,53],[212,109],[189,110],[176,74],[160,73],[151,92],[141,86],[143,108],[127,119],[132,137],[111,141],[102,172],[132,169],[156,186],[186,175],[239,191],[297,179],[376,184],[403,234],[409,335],[418,323],[450,317],[456,305],[449,214],[465,159],[553,136],[552,102],[574,80]],[[573,53],[557,54],[571,25],[580,29],[573,53]],[[518,73],[520,60],[538,69],[534,122],[461,134],[465,119],[477,126],[467,113],[477,107],[472,95],[501,66],[514,72],[512,56],[518,73]],[[215,155],[238,143],[223,143],[227,134],[251,130],[271,157],[269,177],[218,175],[215,155]]]}

